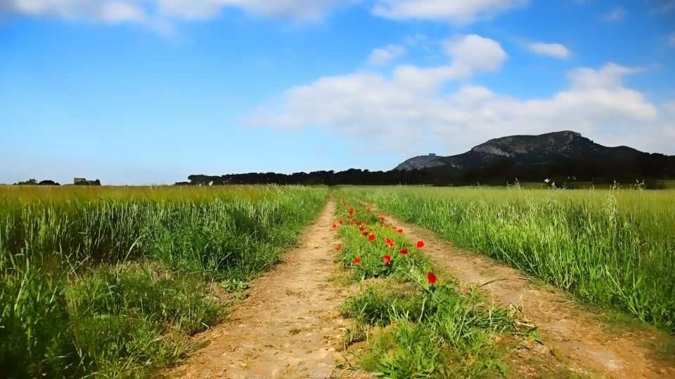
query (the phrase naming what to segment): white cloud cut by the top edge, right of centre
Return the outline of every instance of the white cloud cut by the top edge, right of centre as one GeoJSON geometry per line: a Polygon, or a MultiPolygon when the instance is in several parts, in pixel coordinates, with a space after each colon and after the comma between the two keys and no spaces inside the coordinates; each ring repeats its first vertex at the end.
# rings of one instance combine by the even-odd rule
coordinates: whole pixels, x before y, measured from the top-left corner
{"type": "Polygon", "coordinates": [[[512,8],[527,0],[376,0],[373,13],[394,20],[438,20],[465,24],[512,8]]]}

